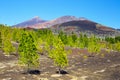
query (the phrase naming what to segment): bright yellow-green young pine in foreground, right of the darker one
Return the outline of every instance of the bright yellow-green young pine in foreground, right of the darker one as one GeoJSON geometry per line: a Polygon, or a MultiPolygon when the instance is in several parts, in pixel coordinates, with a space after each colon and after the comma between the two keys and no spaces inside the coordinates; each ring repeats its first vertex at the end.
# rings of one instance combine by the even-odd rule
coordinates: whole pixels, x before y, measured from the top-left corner
{"type": "Polygon", "coordinates": [[[61,72],[61,68],[68,65],[67,53],[68,51],[65,50],[61,39],[55,38],[49,57],[52,58],[54,60],[54,64],[59,67],[59,73],[61,72]]]}

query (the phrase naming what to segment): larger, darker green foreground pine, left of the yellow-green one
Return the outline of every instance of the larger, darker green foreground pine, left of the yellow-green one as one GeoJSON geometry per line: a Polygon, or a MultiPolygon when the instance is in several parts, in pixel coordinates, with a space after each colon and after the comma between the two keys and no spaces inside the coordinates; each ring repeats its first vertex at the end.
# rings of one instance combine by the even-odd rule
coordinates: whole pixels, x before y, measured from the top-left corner
{"type": "Polygon", "coordinates": [[[37,49],[34,44],[34,39],[29,32],[24,31],[22,33],[18,51],[20,56],[19,62],[27,66],[27,72],[31,68],[39,66],[39,55],[36,53],[37,49]]]}

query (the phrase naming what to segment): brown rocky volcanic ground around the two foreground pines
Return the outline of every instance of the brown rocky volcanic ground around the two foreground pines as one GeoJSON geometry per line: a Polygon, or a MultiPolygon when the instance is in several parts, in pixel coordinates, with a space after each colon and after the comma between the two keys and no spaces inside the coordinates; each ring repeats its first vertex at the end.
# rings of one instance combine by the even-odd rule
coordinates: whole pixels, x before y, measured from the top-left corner
{"type": "Polygon", "coordinates": [[[120,80],[120,52],[101,51],[103,55],[89,56],[83,49],[72,49],[68,74],[58,75],[57,67],[45,55],[40,55],[40,74],[25,74],[18,65],[17,55],[5,56],[0,51],[0,80],[120,80]]]}

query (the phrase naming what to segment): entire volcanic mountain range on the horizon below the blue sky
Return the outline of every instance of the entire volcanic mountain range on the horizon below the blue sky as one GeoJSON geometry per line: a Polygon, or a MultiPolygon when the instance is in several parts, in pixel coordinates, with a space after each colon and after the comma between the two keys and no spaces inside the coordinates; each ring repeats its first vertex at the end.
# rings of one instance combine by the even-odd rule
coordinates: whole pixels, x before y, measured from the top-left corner
{"type": "Polygon", "coordinates": [[[109,34],[113,35],[120,33],[114,28],[104,26],[100,23],[91,21],[84,17],[76,18],[75,16],[62,16],[54,20],[42,20],[39,17],[32,18],[31,20],[22,22],[15,25],[16,27],[30,27],[35,29],[49,28],[54,32],[85,32],[88,34],[109,34]]]}

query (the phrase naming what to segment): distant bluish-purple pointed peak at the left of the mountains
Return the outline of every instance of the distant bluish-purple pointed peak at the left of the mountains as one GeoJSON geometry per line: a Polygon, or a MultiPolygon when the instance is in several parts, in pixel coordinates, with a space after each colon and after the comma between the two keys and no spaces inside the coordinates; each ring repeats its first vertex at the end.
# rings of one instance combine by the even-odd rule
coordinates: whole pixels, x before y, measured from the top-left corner
{"type": "Polygon", "coordinates": [[[22,23],[16,24],[16,25],[14,25],[14,27],[31,27],[35,24],[44,23],[44,22],[46,22],[46,20],[42,20],[38,16],[36,16],[36,17],[34,17],[30,20],[27,20],[27,21],[24,21],[22,23]]]}

